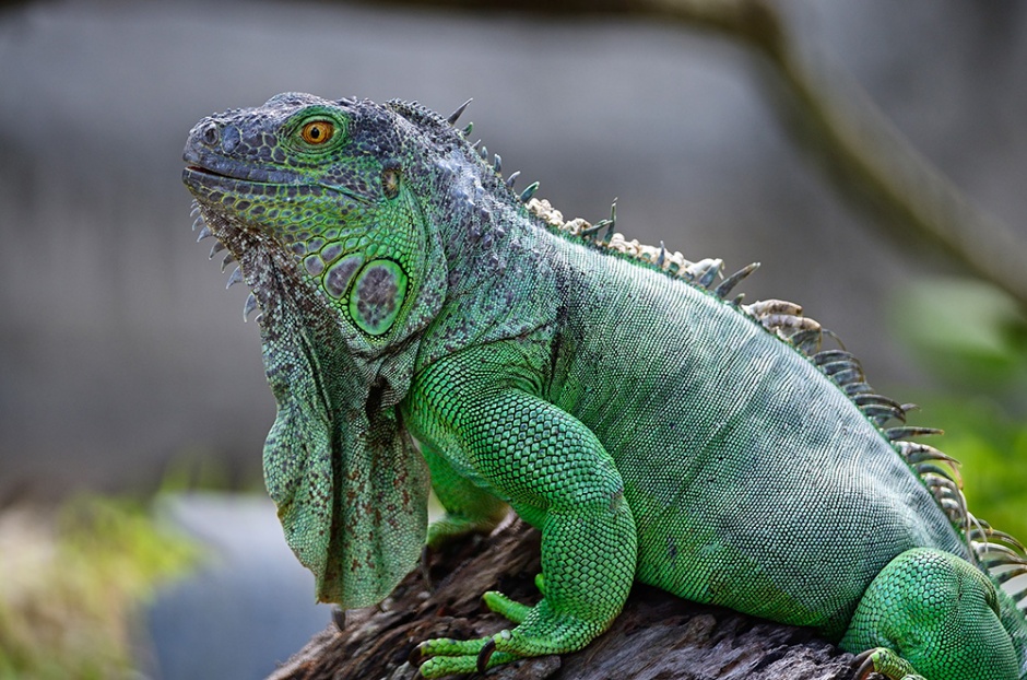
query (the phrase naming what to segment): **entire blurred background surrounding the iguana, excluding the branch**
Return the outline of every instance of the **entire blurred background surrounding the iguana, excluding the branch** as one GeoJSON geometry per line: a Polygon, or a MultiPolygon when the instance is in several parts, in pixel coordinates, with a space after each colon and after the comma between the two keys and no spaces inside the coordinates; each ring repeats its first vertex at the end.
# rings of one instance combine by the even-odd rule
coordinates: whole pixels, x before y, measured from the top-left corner
{"type": "MultiPolygon", "coordinates": [[[[857,139],[871,102],[1022,251],[1027,8],[769,5],[796,59],[852,104],[857,139]]],[[[931,443],[965,461],[971,509],[1027,539],[1025,297],[910,233],[872,190],[839,191],[774,66],[730,35],[492,7],[0,3],[0,614],[26,617],[0,615],[0,678],[262,677],[328,620],[259,495],[274,402],[247,292],[224,291],[211,242],[194,243],[179,179],[197,120],[283,91],[442,114],[474,97],[461,120],[568,219],[594,222],[617,198],[628,238],[730,271],[760,261],[747,298],[803,304],[881,391],[920,403],[914,422],[944,427],[931,443]],[[99,612],[81,621],[110,617],[116,640],[97,675],[71,673],[52,631],[90,598],[38,599],[111,553],[126,563],[95,579],[125,585],[129,570],[139,587],[81,585],[99,612]],[[26,564],[34,577],[14,578],[26,564]],[[309,612],[291,619],[293,602],[309,612]]],[[[991,275],[1025,269],[996,261],[991,275]]]]}

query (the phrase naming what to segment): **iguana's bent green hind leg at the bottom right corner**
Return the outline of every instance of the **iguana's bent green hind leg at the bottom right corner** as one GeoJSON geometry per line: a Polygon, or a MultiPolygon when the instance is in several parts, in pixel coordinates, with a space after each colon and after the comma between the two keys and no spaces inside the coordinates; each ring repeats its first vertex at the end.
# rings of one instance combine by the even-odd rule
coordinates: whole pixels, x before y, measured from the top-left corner
{"type": "Polygon", "coordinates": [[[934,549],[908,550],[881,571],[841,647],[869,650],[862,670],[892,680],[1018,679],[995,586],[965,560],[934,549]]]}

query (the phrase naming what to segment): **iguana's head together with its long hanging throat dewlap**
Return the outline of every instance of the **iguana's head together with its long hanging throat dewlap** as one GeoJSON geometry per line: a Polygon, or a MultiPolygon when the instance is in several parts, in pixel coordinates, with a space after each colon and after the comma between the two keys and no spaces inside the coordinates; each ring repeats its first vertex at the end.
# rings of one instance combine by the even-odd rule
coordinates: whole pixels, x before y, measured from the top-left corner
{"type": "Polygon", "coordinates": [[[204,118],[184,154],[206,227],[261,307],[279,405],[268,490],[319,599],[345,607],[383,598],[424,537],[427,476],[396,405],[446,296],[426,216],[446,209],[424,198],[462,138],[403,106],[281,94],[204,118]]]}

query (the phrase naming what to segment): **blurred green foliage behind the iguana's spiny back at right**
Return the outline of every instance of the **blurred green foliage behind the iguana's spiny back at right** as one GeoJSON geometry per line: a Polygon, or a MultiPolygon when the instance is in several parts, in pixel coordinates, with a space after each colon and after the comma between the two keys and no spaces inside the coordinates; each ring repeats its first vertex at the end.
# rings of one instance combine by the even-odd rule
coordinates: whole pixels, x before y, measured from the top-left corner
{"type": "Polygon", "coordinates": [[[945,430],[931,443],[963,462],[970,512],[1027,540],[1027,321],[1002,293],[953,279],[913,284],[893,309],[937,383],[916,395],[917,422],[945,430]]]}

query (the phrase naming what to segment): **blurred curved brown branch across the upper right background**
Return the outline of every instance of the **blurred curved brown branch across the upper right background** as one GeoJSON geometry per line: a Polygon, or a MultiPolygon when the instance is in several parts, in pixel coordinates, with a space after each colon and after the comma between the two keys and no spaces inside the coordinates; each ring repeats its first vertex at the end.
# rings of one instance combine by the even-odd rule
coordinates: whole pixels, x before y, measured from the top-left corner
{"type": "MultiPolygon", "coordinates": [[[[763,57],[775,110],[836,188],[887,221],[889,236],[931,243],[1012,295],[1027,314],[1027,243],[972,204],[840,69],[803,58],[772,0],[393,0],[465,10],[674,21],[763,57]]],[[[884,226],[884,225],[882,225],[884,226]]],[[[883,232],[885,230],[882,230],[883,232]]]]}

